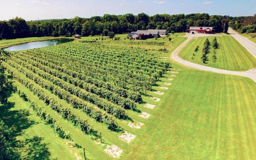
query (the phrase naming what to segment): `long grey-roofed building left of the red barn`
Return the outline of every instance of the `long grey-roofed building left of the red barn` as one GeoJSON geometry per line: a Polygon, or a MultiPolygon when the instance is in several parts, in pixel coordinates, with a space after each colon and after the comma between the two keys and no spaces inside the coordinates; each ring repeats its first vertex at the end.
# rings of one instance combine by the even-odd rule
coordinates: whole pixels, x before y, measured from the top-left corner
{"type": "Polygon", "coordinates": [[[166,29],[148,29],[148,30],[137,30],[136,32],[131,32],[127,35],[128,38],[132,37],[134,39],[141,38],[140,35],[146,35],[151,37],[160,37],[161,35],[168,35],[166,29]]]}

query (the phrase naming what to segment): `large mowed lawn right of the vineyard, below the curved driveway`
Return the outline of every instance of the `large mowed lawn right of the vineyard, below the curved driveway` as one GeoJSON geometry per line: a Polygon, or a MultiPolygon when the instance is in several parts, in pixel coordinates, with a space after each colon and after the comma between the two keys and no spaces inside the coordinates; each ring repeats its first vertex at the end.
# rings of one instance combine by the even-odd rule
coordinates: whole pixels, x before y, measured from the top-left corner
{"type": "Polygon", "coordinates": [[[121,159],[256,159],[256,83],[185,68],[173,75],[121,159]]]}

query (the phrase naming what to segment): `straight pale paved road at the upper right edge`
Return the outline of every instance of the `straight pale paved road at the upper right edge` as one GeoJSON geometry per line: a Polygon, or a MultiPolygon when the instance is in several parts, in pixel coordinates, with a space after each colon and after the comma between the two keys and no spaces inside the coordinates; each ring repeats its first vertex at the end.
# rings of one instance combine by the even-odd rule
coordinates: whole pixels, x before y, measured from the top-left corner
{"type": "Polygon", "coordinates": [[[228,28],[227,32],[236,38],[237,41],[240,42],[255,58],[256,58],[256,43],[250,41],[248,38],[245,38],[241,35],[239,35],[236,31],[231,29],[230,27],[228,28]]]}

